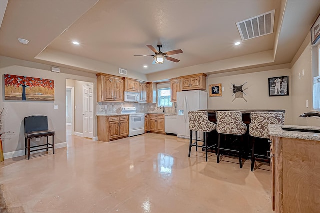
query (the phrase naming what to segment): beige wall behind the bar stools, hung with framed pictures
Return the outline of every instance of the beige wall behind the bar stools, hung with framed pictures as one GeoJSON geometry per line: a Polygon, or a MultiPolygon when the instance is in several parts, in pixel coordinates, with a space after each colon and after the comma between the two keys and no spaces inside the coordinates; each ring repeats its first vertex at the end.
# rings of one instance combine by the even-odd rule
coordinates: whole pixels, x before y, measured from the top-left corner
{"type": "MultiPolygon", "coordinates": [[[[291,124],[291,95],[288,96],[273,96],[269,97],[268,93],[268,78],[276,76],[290,76],[290,69],[277,69],[269,71],[260,71],[253,73],[241,74],[241,71],[228,72],[221,74],[212,74],[207,76],[207,88],[210,84],[222,83],[224,91],[222,96],[213,96],[208,98],[209,109],[284,109],[285,123],[291,124]],[[247,82],[243,89],[246,95],[242,98],[234,99],[233,86],[237,86],[247,82]],[[232,86],[232,89],[231,89],[232,86]]],[[[290,77],[289,77],[289,81],[290,77]]],[[[289,82],[289,89],[290,82],[289,82]]]]}

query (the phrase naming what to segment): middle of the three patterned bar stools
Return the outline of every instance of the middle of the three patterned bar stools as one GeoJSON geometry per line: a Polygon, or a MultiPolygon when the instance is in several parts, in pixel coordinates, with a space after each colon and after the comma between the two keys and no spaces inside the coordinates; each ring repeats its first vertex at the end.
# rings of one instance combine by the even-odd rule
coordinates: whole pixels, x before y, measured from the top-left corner
{"type": "Polygon", "coordinates": [[[243,135],[246,133],[247,126],[242,121],[242,113],[240,111],[217,111],[216,112],[216,131],[218,132],[218,158],[216,163],[220,161],[220,151],[236,152],[239,154],[240,168],[242,168],[242,152],[243,152],[243,135]],[[240,136],[240,144],[238,150],[228,147],[220,147],[221,134],[240,136]]]}

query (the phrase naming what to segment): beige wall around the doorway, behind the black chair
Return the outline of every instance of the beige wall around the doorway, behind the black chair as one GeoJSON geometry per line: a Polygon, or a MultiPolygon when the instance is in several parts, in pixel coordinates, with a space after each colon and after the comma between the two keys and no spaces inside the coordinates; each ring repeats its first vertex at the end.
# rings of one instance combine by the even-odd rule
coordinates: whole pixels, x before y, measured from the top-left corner
{"type": "MultiPolygon", "coordinates": [[[[40,63],[28,62],[13,58],[0,57],[0,106],[7,109],[3,118],[2,135],[4,153],[21,152],[24,150],[24,124],[23,119],[29,115],[47,115],[49,128],[55,131],[55,143],[66,142],[66,116],[65,116],[65,87],[66,79],[93,82],[96,86],[96,75],[77,70],[63,69],[60,73],[51,72],[51,66],[40,63]],[[70,74],[71,73],[71,74],[70,74]],[[4,100],[3,76],[4,74],[22,75],[54,80],[54,102],[50,101],[7,101],[4,100]],[[54,105],[58,109],[54,109],[54,105]],[[14,132],[14,133],[13,133],[14,132]]],[[[81,96],[82,97],[82,96],[81,96]]],[[[95,97],[96,102],[96,97],[95,97]]],[[[82,105],[82,104],[81,104],[82,105]]],[[[95,108],[95,107],[94,107],[95,108]]],[[[95,122],[96,136],[96,122],[95,122]]],[[[23,151],[24,152],[24,151],[23,151]]]]}

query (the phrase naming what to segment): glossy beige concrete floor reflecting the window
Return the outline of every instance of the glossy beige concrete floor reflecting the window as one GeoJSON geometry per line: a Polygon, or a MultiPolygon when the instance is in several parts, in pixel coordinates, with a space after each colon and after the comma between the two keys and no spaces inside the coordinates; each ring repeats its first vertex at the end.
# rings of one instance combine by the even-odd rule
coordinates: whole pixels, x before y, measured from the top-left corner
{"type": "Polygon", "coordinates": [[[270,168],[147,133],[104,143],[68,136],[68,147],[0,162],[0,212],[271,213],[270,168]]]}

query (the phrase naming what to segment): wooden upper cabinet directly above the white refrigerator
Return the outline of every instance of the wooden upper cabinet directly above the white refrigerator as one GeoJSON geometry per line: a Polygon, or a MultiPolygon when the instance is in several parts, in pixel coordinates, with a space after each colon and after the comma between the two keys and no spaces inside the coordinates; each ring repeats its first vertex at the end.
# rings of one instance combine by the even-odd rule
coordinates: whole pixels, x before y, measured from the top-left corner
{"type": "Polygon", "coordinates": [[[194,89],[206,89],[206,74],[194,74],[181,77],[182,91],[194,89]]]}

